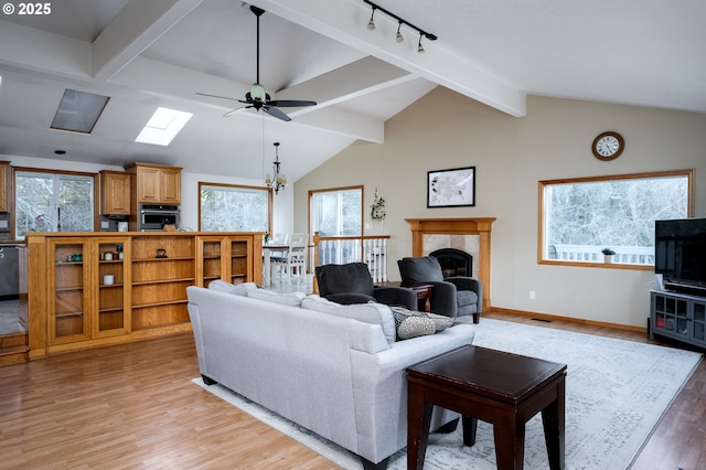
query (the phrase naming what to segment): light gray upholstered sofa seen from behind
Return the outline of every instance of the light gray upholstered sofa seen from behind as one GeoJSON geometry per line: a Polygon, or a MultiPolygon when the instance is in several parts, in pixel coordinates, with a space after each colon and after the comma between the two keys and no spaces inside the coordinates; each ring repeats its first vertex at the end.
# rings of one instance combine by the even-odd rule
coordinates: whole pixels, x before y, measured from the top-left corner
{"type": "MultiPolygon", "coordinates": [[[[474,335],[472,324],[454,324],[396,341],[391,309],[381,303],[341,306],[223,281],[211,287],[186,289],[204,382],[353,451],[365,468],[384,469],[407,445],[405,368],[474,335]]],[[[458,416],[435,409],[432,429],[458,416]]]]}

